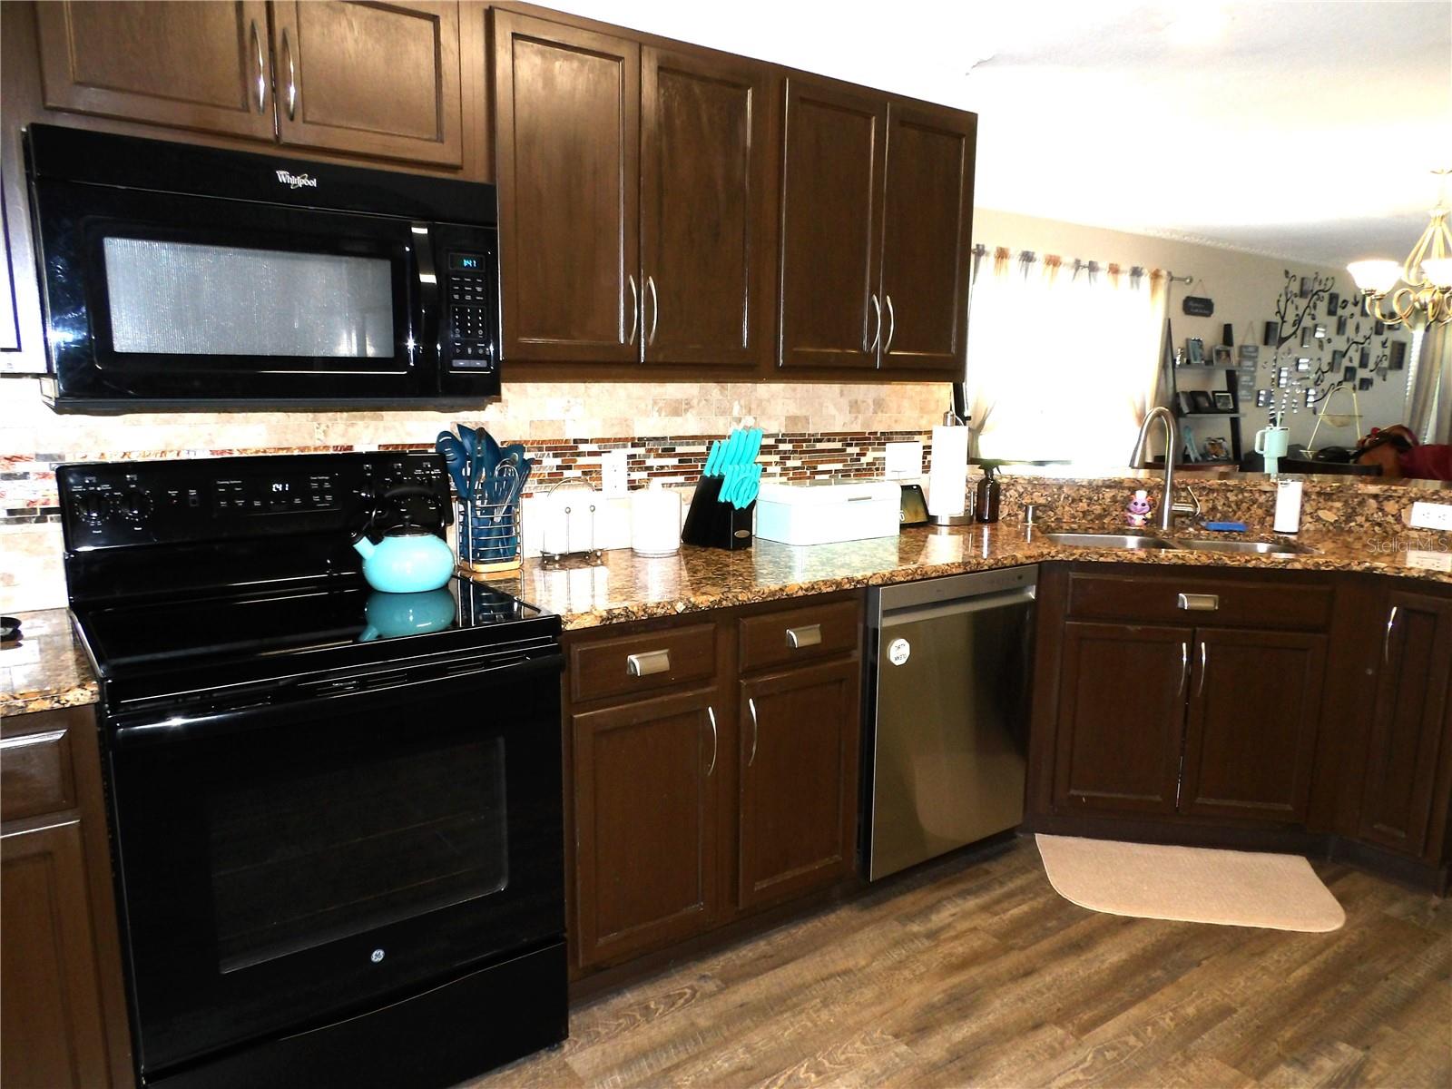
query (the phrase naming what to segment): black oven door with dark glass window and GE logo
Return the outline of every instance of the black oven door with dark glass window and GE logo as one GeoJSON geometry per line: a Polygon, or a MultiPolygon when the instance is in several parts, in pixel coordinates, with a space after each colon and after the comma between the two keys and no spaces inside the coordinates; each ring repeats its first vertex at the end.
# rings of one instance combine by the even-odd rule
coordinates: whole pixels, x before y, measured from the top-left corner
{"type": "Polygon", "coordinates": [[[142,1073],[559,941],[560,665],[109,720],[142,1073]]]}

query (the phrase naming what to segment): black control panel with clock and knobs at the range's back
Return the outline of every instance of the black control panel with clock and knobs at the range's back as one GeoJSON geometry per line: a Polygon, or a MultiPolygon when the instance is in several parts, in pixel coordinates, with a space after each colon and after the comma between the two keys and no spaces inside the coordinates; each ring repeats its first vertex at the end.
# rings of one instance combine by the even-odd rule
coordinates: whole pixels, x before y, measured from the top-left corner
{"type": "Polygon", "coordinates": [[[71,550],[346,533],[401,486],[433,497],[414,502],[449,504],[443,459],[423,452],[93,462],[55,475],[71,550]]]}

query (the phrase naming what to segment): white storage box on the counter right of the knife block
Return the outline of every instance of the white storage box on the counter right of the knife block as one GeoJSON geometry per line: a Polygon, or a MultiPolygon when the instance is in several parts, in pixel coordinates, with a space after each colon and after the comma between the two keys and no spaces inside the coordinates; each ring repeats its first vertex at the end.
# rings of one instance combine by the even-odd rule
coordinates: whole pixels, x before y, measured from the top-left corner
{"type": "Polygon", "coordinates": [[[761,485],[756,536],[784,544],[896,537],[902,486],[892,481],[761,485]]]}

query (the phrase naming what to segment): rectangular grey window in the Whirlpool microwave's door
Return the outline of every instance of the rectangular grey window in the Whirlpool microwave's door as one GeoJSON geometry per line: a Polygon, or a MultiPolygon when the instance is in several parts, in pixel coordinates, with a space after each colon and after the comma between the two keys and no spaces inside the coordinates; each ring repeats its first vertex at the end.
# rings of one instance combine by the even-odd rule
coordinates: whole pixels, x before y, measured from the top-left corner
{"type": "Polygon", "coordinates": [[[171,356],[392,357],[380,257],[106,238],[112,350],[171,356]]]}

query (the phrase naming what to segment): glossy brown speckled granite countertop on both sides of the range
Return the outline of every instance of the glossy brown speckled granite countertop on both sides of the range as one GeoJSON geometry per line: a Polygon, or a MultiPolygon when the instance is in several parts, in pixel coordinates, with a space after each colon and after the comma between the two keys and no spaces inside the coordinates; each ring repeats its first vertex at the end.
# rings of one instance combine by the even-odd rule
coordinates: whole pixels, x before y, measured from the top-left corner
{"type": "MultiPolygon", "coordinates": [[[[1262,534],[1262,539],[1272,536],[1262,534]]],[[[1048,542],[1040,530],[1025,531],[1019,523],[1002,521],[903,530],[896,537],[809,549],[758,540],[742,552],[682,547],[674,556],[656,559],[616,549],[605,552],[600,563],[526,560],[518,572],[489,582],[559,613],[566,630],[1048,560],[1362,571],[1452,584],[1452,534],[1307,529],[1295,540],[1314,552],[1256,556],[1074,549],[1048,542]]],[[[20,620],[25,640],[17,648],[0,650],[0,713],[96,703],[96,681],[71,635],[65,610],[22,613],[20,620]]]]}

